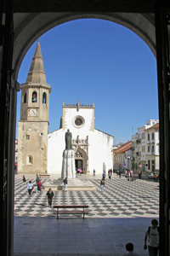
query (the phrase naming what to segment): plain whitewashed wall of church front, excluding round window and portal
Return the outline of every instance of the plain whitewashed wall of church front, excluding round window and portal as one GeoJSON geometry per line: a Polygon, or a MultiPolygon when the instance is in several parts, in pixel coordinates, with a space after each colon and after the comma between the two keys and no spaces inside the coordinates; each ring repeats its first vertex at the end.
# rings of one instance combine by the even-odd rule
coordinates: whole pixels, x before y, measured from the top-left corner
{"type": "Polygon", "coordinates": [[[69,129],[72,140],[86,140],[88,137],[87,172],[103,172],[113,168],[113,137],[103,131],[94,129],[94,107],[63,107],[62,129],[48,134],[48,173],[61,173],[63,151],[65,150],[65,132],[69,129]],[[75,125],[75,119],[80,117],[83,125],[75,125]]]}

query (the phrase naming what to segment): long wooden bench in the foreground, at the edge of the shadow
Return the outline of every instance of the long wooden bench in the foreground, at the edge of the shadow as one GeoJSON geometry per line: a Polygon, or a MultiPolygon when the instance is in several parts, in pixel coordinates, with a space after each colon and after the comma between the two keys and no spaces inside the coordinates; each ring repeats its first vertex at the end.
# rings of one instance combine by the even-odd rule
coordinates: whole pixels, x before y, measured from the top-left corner
{"type": "MultiPolygon", "coordinates": [[[[88,214],[88,211],[85,211],[84,209],[88,208],[88,206],[54,206],[54,209],[57,209],[57,219],[59,218],[59,214],[82,214],[83,218],[85,214],[88,214]],[[72,211],[70,210],[60,210],[59,209],[74,209],[72,211]],[[77,210],[77,208],[82,208],[83,210],[77,210]]],[[[55,213],[54,213],[55,214],[55,213]]]]}

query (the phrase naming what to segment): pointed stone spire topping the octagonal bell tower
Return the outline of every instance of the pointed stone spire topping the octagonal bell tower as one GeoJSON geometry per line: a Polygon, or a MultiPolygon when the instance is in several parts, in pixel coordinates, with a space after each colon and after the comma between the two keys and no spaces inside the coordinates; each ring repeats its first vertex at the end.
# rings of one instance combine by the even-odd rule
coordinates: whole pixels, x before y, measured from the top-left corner
{"type": "Polygon", "coordinates": [[[26,79],[26,83],[47,84],[39,39],[37,41],[35,54],[31,61],[31,67],[26,79]]]}

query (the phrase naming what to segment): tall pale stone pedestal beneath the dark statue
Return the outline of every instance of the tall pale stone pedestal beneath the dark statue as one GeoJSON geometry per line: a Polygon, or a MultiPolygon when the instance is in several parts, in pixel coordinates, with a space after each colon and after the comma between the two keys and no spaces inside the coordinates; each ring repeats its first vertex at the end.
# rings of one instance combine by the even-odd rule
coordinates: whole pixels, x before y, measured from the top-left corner
{"type": "Polygon", "coordinates": [[[61,178],[76,178],[74,150],[65,149],[63,152],[63,164],[61,178]]]}

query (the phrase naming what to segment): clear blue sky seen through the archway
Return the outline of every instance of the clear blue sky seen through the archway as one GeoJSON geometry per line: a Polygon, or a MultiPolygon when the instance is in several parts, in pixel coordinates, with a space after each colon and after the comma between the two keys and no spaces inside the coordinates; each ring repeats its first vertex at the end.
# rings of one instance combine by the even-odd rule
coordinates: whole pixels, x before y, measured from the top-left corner
{"type": "MultiPolygon", "coordinates": [[[[63,100],[94,101],[95,128],[113,135],[114,144],[126,143],[147,120],[158,119],[156,58],[126,27],[107,20],[73,20],[43,34],[40,45],[52,87],[49,132],[59,129],[63,100]]],[[[20,84],[26,82],[36,46],[37,41],[20,66],[20,84]]],[[[20,92],[17,124],[19,119],[20,92]]]]}

